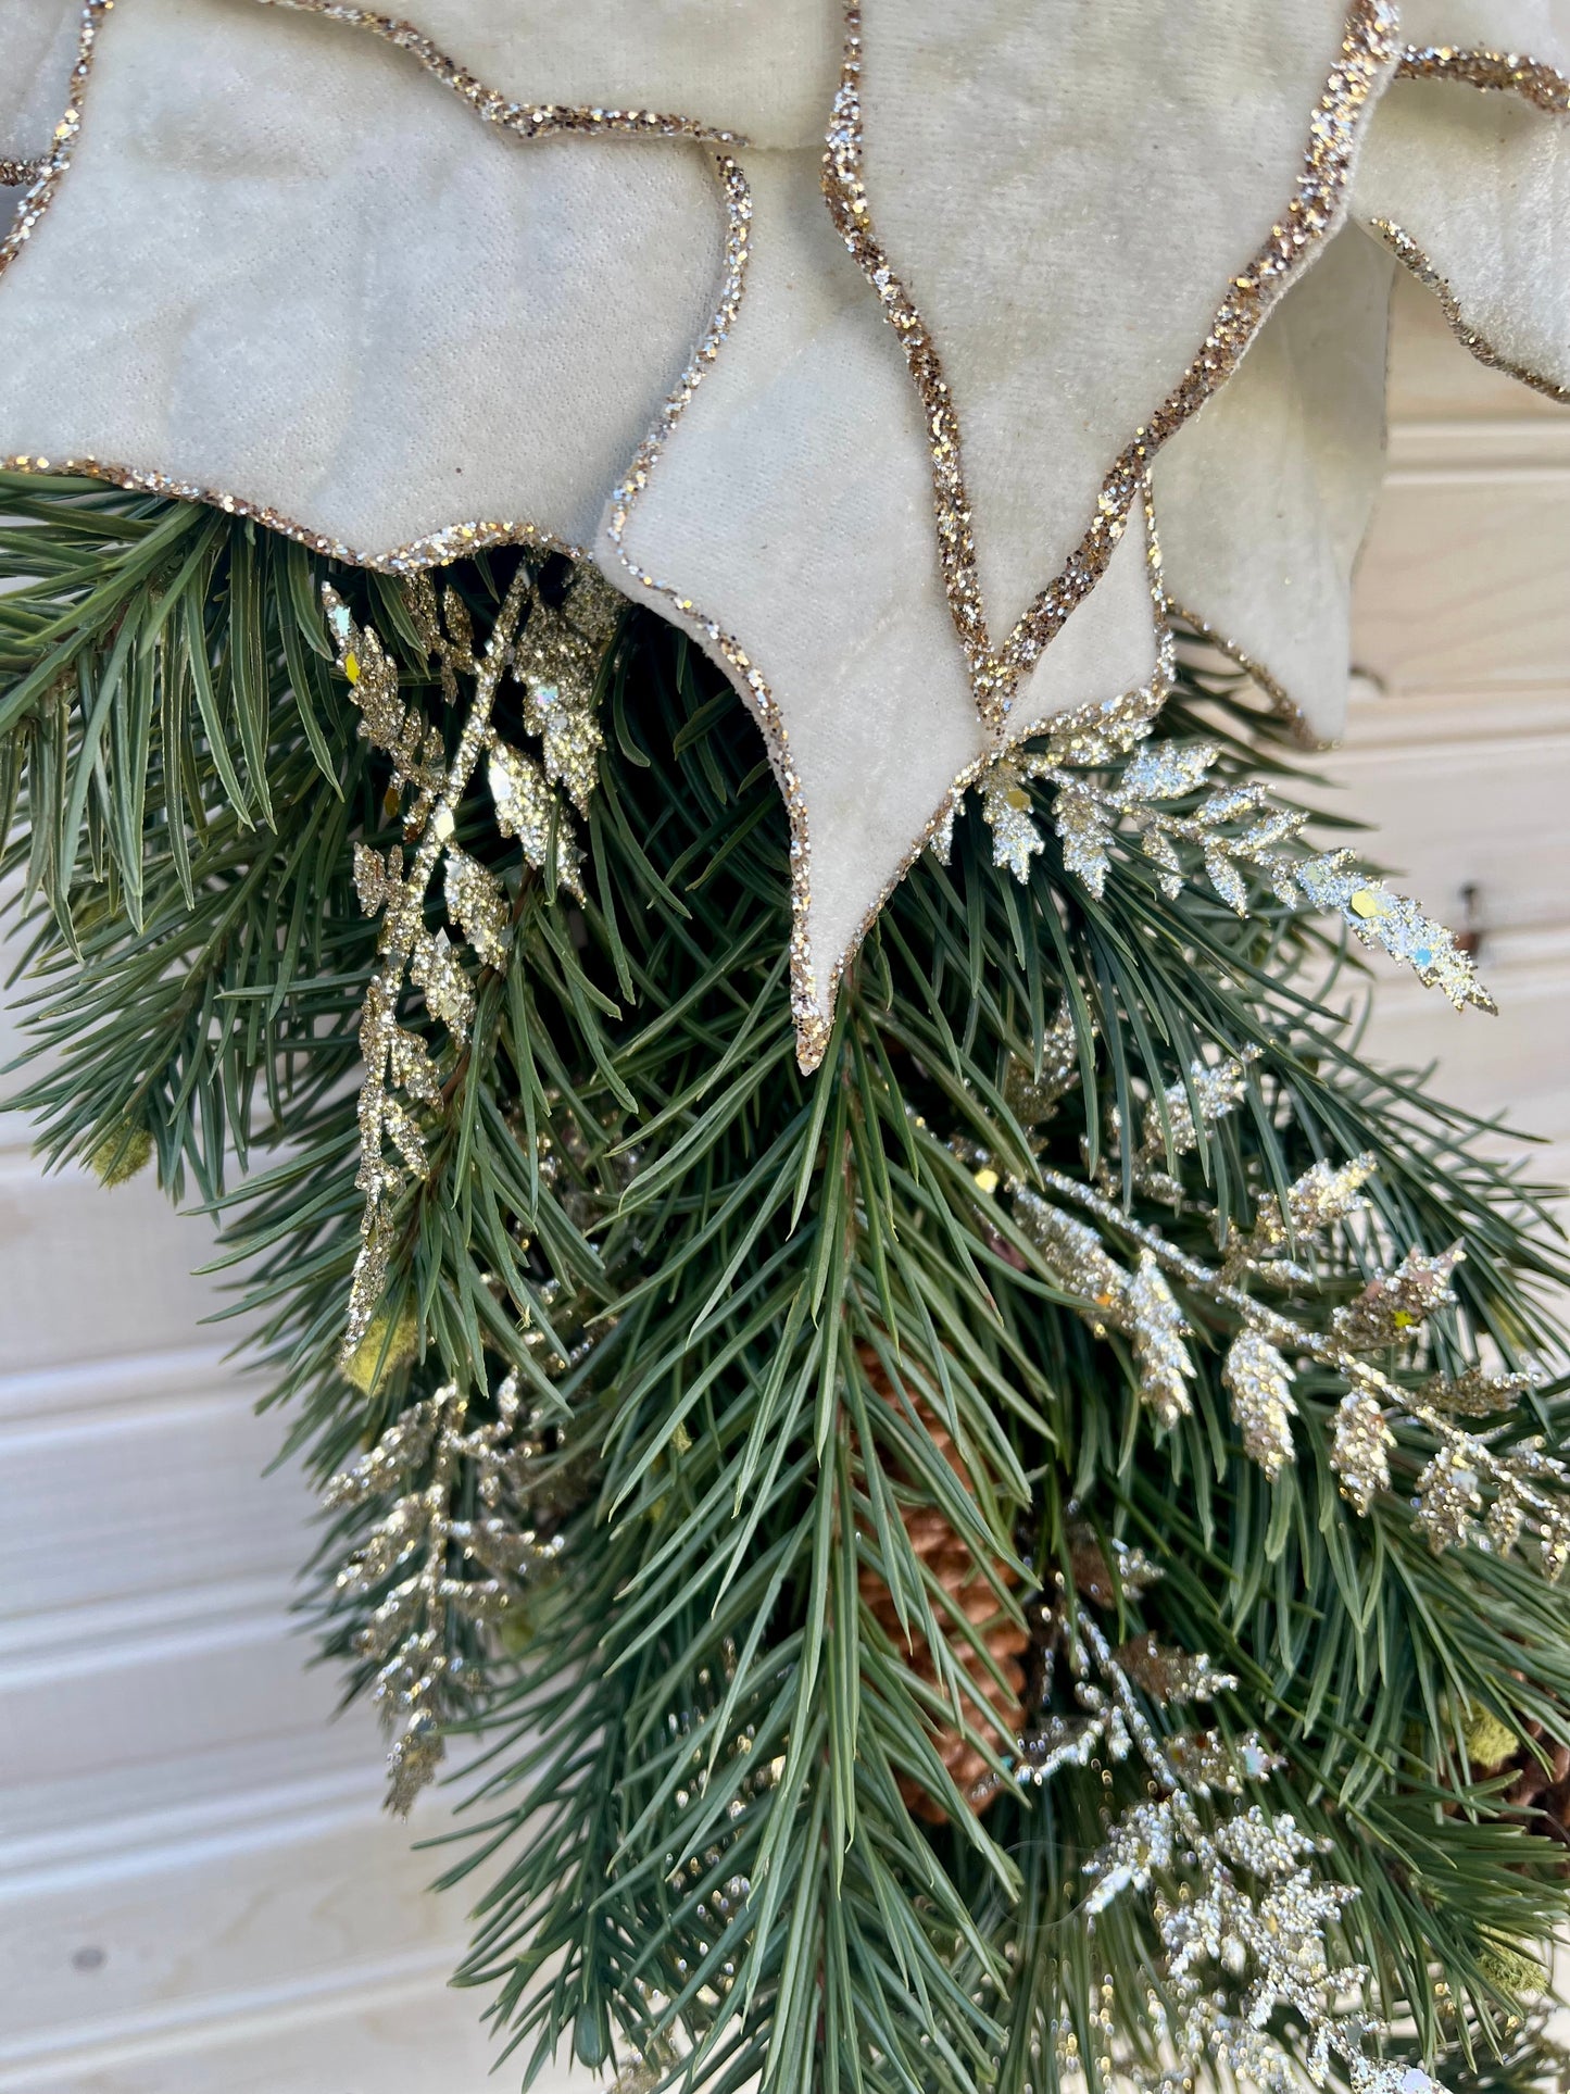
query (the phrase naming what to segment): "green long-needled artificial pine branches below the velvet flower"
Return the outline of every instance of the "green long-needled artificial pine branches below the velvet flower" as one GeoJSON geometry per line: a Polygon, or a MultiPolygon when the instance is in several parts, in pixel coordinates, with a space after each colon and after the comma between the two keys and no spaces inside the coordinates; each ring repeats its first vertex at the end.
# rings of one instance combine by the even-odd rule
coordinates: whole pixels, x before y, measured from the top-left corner
{"type": "MultiPolygon", "coordinates": [[[[1097,1748],[1017,1780],[973,1700],[999,1671],[988,1631],[1013,1621],[1038,1728],[1086,1707],[1061,1663],[1076,1640],[1204,1654],[1197,1728],[1281,1761],[1243,1803],[1289,1813],[1359,1891],[1338,1935],[1400,2031],[1386,2054],[1451,2050],[1457,2090],[1537,2084],[1549,2054],[1522,1993],[1566,1912],[1562,1849],[1480,1774],[1476,1734],[1486,1717],[1526,1753],[1570,1744],[1570,1596],[1530,1547],[1432,1545],[1421,1418],[1392,1420],[1392,1489],[1354,1510],[1331,1365],[1298,1372],[1294,1460],[1266,1476],[1223,1378],[1237,1315],[1181,1277],[1187,1411],[1162,1426],[1139,1344],[1114,1317],[1097,1332],[1097,1298],[1032,1227],[1049,1191],[1120,1271],[1141,1229],[1218,1267],[1315,1164],[1369,1154],[1369,1206],[1294,1240],[1269,1290],[1237,1286],[1325,1334],[1407,1252],[1459,1244],[1455,1300],[1409,1319],[1380,1369],[1413,1397],[1520,1369],[1488,1445],[1562,1447],[1547,1215],[1488,1129],[1359,1057],[1340,942],[1264,879],[1246,915],[1199,886],[1172,898],[1122,844],[1101,896],[1051,833],[1017,884],[967,812],[950,867],[923,859],[867,938],[804,1078],[762,743],[718,672],[630,611],[601,676],[584,903],[479,798],[458,821],[507,888],[509,963],[475,972],[463,1051],[425,1028],[431,1171],[345,1378],[377,946],[352,846],[387,848],[400,823],[333,678],[320,582],[431,720],[458,716],[383,578],[147,496],[0,492],[4,869],[38,1055],[19,1104],[44,1152],[115,1177],[147,1148],[216,1212],[234,1311],[322,1480],[448,1386],[488,1420],[513,1376],[532,1418],[509,1474],[551,1560],[496,1627],[448,1591],[454,1560],[435,1623],[446,1713],[481,1740],[450,1870],[477,1899],[463,1977],[513,2069],[565,2035],[651,2088],[714,2094],[758,2071],[1026,2094],[1059,2084],[1070,2048],[1091,2086],[1124,2054],[1153,2075],[1151,2004],[1174,2000],[1153,1901],[1112,1899],[1095,1924],[1086,1906],[1149,1767],[1097,1748]],[[1229,1057],[1237,1106],[1216,1114],[1193,1070],[1229,1057]],[[1030,1087],[1059,1062],[1047,1112],[1030,1087]],[[923,1510],[967,1543],[992,1617],[934,1589],[923,1510]],[[955,1730],[994,1763],[986,1809],[942,1757],[955,1730]]],[[[479,630],[517,557],[454,570],[479,630]]],[[[571,570],[546,561],[538,591],[569,601],[571,570]]],[[[1220,739],[1223,781],[1264,764],[1292,798],[1271,725],[1216,678],[1185,670],[1158,735],[1220,739]]],[[[421,1030],[419,1007],[404,1022],[421,1030]]],[[[360,1688],[402,1560],[347,1585],[339,1566],[421,1487],[410,1445],[402,1480],[391,1464],[341,1495],[312,1573],[360,1688]]],[[[461,1464],[471,1520],[477,1474],[461,1464]]],[[[1153,1734],[1191,1738],[1183,1694],[1128,1669],[1153,1734]]],[[[1289,2006],[1269,2029],[1306,2046],[1289,2006]]],[[[1331,2071],[1359,2084],[1346,2058],[1331,2071]]]]}

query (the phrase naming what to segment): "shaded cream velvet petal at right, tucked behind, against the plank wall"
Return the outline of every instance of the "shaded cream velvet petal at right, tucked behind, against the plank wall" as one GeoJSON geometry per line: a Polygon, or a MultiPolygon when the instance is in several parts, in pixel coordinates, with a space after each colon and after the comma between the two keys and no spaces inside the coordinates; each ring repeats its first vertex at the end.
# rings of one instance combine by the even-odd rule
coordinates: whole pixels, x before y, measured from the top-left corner
{"type": "Polygon", "coordinates": [[[1394,268],[1361,226],[1338,232],[1151,475],[1172,603],[1258,666],[1319,741],[1346,725],[1394,268]]]}

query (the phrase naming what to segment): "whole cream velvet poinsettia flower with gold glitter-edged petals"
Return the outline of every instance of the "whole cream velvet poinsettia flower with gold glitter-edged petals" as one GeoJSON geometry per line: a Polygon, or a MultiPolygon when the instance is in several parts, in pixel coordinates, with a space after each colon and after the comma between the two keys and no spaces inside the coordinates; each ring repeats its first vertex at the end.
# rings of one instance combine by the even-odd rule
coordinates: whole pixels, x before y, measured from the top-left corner
{"type": "Polygon", "coordinates": [[[1396,262],[1570,387],[1568,17],[0,0],[0,456],[592,553],[764,729],[810,1062],[957,792],[1174,616],[1336,733],[1396,262]]]}

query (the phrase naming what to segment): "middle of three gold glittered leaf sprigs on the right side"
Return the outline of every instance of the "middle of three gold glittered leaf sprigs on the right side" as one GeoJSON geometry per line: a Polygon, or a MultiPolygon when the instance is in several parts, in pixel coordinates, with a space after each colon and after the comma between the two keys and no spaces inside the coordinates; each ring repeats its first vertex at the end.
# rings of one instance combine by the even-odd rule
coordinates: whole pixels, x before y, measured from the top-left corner
{"type": "MultiPolygon", "coordinates": [[[[1174,1175],[1193,1154],[1199,1131],[1233,1114],[1246,1095],[1258,1049],[1216,1064],[1195,1062],[1187,1078],[1170,1085],[1160,1106],[1147,1101],[1139,1148],[1128,1158],[1132,1183],[1153,1200],[1181,1208],[1183,1179],[1174,1175]],[[1197,1116],[1195,1116],[1197,1114],[1197,1116]]],[[[1042,1124],[1072,1089],[1076,1062],[1068,1041],[1047,1081],[1042,1124]]],[[[1007,1087],[1026,1097],[1026,1076],[1009,1072],[1007,1087]]],[[[1114,1114],[1114,1133],[1118,1116],[1114,1114]]],[[[1038,1137],[1040,1139],[1040,1137],[1038,1137]]],[[[1045,1143],[1040,1143],[1045,1145],[1045,1143]]],[[[969,1160],[978,1152],[967,1152],[969,1160]]],[[[1101,1340],[1124,1342],[1141,1403],[1162,1428],[1193,1411],[1197,1363],[1193,1313],[1185,1300],[1204,1302],[1212,1334],[1216,1317],[1231,1332],[1220,1340],[1218,1380],[1243,1455],[1275,1483],[1298,1460],[1296,1434],[1302,1407],[1296,1384],[1304,1365],[1329,1369],[1342,1395],[1325,1420],[1329,1466],[1342,1495],[1359,1514],[1388,1497],[1396,1426],[1421,1428],[1432,1455],[1411,1487],[1419,1531],[1436,1552],[1474,1545],[1488,1552],[1532,1547],[1543,1570],[1557,1577],[1570,1564],[1570,1468],[1539,1439],[1507,1430],[1509,1413],[1530,1390],[1524,1374],[1467,1367],[1455,1378],[1413,1382],[1405,1367],[1373,1355],[1403,1355],[1423,1340],[1428,1323],[1455,1307],[1451,1288],[1461,1250],[1407,1252],[1390,1271],[1377,1271],[1340,1305],[1325,1305],[1317,1267],[1317,1240],[1346,1231],[1367,1202],[1363,1187],[1375,1158],[1315,1162],[1285,1194],[1262,1191],[1248,1231],[1229,1229],[1218,1265],[1179,1250],[1160,1229],[1137,1221],[1118,1198],[1116,1171],[1103,1160],[1093,1183],[1055,1168],[1034,1181],[1003,1185],[982,1162],[980,1189],[1003,1185],[1022,1240],[1040,1269],[1063,1290],[1101,1340]],[[1292,1288],[1306,1300],[1292,1313],[1260,1300],[1254,1284],[1292,1288]],[[1480,1420],[1467,1430],[1461,1420],[1480,1420]],[[1493,1432],[1488,1420],[1497,1420],[1493,1432]]],[[[1212,1338],[1214,1342],[1214,1338],[1212,1338]]]]}

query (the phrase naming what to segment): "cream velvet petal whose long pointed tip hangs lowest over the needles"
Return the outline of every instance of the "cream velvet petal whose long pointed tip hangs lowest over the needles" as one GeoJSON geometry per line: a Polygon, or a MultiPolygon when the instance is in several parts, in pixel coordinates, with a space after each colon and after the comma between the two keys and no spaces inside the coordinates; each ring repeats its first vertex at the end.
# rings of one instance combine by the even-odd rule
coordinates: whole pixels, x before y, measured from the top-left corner
{"type": "MultiPolygon", "coordinates": [[[[632,505],[624,551],[689,603],[657,599],[666,616],[710,647],[712,622],[768,683],[804,798],[810,997],[827,1016],[839,963],[988,741],[938,574],[921,410],[823,211],[818,155],[756,153],[745,172],[741,312],[632,505]]],[[[601,565],[632,586],[609,536],[601,565]]],[[[1109,586],[1095,630],[1097,593],[1070,622],[1086,618],[1082,674],[1066,647],[1057,681],[1030,687],[1040,712],[1149,674],[1137,561],[1132,574],[1128,628],[1114,614],[1130,593],[1109,586]]],[[[779,739],[770,754],[779,768],[779,739]]]]}

